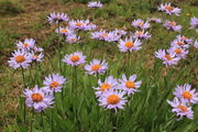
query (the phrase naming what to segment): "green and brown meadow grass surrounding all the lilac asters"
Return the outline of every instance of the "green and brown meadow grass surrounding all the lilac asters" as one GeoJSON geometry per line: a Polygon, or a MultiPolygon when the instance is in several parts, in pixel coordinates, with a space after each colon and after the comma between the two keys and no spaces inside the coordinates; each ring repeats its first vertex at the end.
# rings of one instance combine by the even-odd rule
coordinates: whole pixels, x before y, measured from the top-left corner
{"type": "MultiPolygon", "coordinates": [[[[54,33],[55,28],[46,22],[46,15],[52,11],[64,11],[69,18],[74,19],[90,19],[100,29],[113,30],[116,28],[128,29],[134,32],[131,26],[134,19],[146,19],[150,16],[158,16],[163,20],[175,20],[183,30],[182,35],[197,38],[195,30],[189,30],[189,20],[198,14],[197,7],[190,6],[189,2],[175,2],[182,8],[180,16],[168,16],[155,11],[156,7],[162,1],[142,0],[112,0],[105,4],[101,9],[88,9],[87,4],[69,2],[58,2],[56,8],[38,11],[35,18],[32,18],[25,11],[18,14],[15,19],[11,16],[0,19],[0,24],[3,30],[0,31],[0,54],[2,64],[0,65],[0,130],[8,132],[19,131],[89,131],[89,132],[193,132],[198,128],[197,110],[195,106],[195,119],[183,119],[176,121],[176,116],[172,113],[172,108],[167,103],[167,99],[173,99],[173,91],[177,85],[189,82],[193,87],[198,86],[198,69],[197,61],[198,53],[196,48],[190,48],[188,57],[178,63],[175,67],[165,67],[161,61],[155,58],[154,52],[160,48],[169,47],[169,43],[178,33],[169,32],[161,24],[152,25],[148,32],[152,38],[144,41],[142,50],[132,53],[130,58],[128,55],[119,52],[117,43],[106,43],[101,41],[90,40],[90,33],[80,32],[81,41],[78,44],[68,44],[61,42],[62,58],[65,54],[72,54],[76,51],[82,52],[87,56],[87,62],[92,58],[106,59],[109,63],[109,69],[103,76],[88,76],[82,66],[77,67],[76,90],[77,97],[70,92],[73,87],[73,67],[62,63],[58,65],[57,36],[54,33]],[[78,8],[75,8],[78,6],[78,8]],[[65,8],[67,7],[67,8],[65,8]],[[28,21],[19,24],[19,28],[11,26],[15,21],[22,19],[28,21]],[[30,22],[31,21],[31,22],[30,22]],[[11,24],[9,24],[11,22],[11,24]],[[20,29],[24,28],[24,29],[20,29]],[[26,30],[26,32],[25,32],[26,30]],[[57,94],[54,109],[47,109],[43,113],[32,114],[32,109],[28,109],[28,122],[23,123],[23,106],[22,90],[23,81],[20,70],[13,70],[8,67],[7,61],[11,56],[10,53],[15,48],[14,43],[24,37],[34,37],[37,45],[42,46],[45,52],[44,62],[33,65],[31,69],[25,70],[26,86],[33,88],[34,85],[42,87],[43,78],[52,73],[59,73],[67,78],[64,85],[64,98],[57,94]],[[63,69],[61,72],[61,69],[63,69]],[[30,73],[31,72],[31,73],[30,73]],[[112,113],[110,110],[105,110],[98,106],[95,97],[95,90],[91,87],[97,87],[98,78],[105,79],[109,75],[116,78],[121,78],[121,75],[127,76],[136,74],[138,79],[142,80],[140,92],[130,98],[130,101],[124,107],[124,110],[112,113]],[[52,124],[53,118],[53,124],[52,124]],[[33,122],[33,123],[32,123],[33,122]],[[32,124],[32,125],[31,125],[32,124]]],[[[28,4],[29,1],[23,2],[28,4]]],[[[33,6],[38,3],[30,2],[33,6]]],[[[51,1],[44,0],[44,4],[51,1]]],[[[56,3],[56,1],[52,1],[56,3]]],[[[22,3],[21,3],[22,4],[22,3]]],[[[41,6],[41,4],[38,4],[41,6]]],[[[31,7],[31,6],[30,6],[31,7]]],[[[30,8],[29,7],[29,8],[30,8]]],[[[31,15],[31,16],[30,16],[31,15]]],[[[20,20],[19,20],[20,22],[20,20]]]]}

